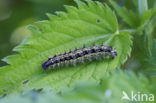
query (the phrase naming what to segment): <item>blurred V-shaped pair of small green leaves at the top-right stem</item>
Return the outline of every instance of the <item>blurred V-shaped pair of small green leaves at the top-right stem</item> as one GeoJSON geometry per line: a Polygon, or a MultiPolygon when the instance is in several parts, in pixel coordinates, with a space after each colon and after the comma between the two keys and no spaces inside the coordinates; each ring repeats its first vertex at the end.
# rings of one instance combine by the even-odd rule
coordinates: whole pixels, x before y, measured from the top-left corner
{"type": "MultiPolygon", "coordinates": [[[[118,15],[123,19],[125,23],[130,25],[130,27],[142,30],[145,26],[147,26],[151,20],[151,18],[155,15],[156,9],[151,8],[142,12],[140,15],[138,12],[134,12],[132,10],[128,10],[126,7],[121,7],[117,5],[114,1],[110,1],[114,9],[117,11],[118,15]]],[[[136,5],[136,4],[134,4],[136,5]]],[[[137,8],[136,8],[137,9],[137,8]]]]}

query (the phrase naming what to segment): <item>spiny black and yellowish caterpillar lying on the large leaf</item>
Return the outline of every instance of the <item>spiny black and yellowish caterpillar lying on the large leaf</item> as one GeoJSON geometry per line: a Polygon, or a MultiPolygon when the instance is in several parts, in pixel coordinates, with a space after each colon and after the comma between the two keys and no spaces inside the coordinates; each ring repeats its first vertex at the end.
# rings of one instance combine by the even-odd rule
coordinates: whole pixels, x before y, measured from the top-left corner
{"type": "Polygon", "coordinates": [[[60,66],[68,66],[69,64],[72,66],[76,66],[77,63],[84,63],[84,61],[92,61],[92,60],[101,60],[102,58],[112,58],[117,56],[117,52],[111,46],[104,46],[103,43],[101,46],[92,45],[91,47],[86,47],[77,49],[69,52],[64,52],[63,54],[54,55],[52,58],[48,58],[42,64],[44,70],[48,70],[49,66],[53,68],[60,66]]]}

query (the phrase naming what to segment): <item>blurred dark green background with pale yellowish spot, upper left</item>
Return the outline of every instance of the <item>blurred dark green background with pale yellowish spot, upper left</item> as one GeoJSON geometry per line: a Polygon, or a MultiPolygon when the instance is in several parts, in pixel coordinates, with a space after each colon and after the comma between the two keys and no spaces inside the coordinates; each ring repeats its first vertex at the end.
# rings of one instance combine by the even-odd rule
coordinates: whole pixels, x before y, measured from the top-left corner
{"type": "MultiPolygon", "coordinates": [[[[64,10],[73,0],[0,0],[0,59],[12,54],[12,49],[31,32],[27,25],[48,19],[46,13],[64,10]]],[[[0,66],[5,62],[0,61],[0,66]]]]}

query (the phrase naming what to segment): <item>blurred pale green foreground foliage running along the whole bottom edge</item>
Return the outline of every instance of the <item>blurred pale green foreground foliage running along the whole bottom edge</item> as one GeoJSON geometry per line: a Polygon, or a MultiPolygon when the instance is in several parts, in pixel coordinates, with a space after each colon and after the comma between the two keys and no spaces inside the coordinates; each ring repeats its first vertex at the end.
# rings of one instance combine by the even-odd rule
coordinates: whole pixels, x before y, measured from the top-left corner
{"type": "MultiPolygon", "coordinates": [[[[2,103],[138,103],[137,101],[121,100],[123,91],[131,97],[131,92],[135,94],[150,93],[155,95],[155,82],[149,80],[142,74],[135,75],[133,72],[114,72],[111,76],[103,78],[100,85],[90,82],[79,83],[76,88],[66,90],[61,94],[55,94],[51,89],[44,88],[39,93],[37,91],[27,91],[24,94],[13,93],[4,99],[2,103]],[[120,80],[120,81],[117,81],[120,80]]],[[[143,102],[146,103],[145,98],[143,102]]],[[[150,101],[154,103],[154,101],[150,101]]]]}

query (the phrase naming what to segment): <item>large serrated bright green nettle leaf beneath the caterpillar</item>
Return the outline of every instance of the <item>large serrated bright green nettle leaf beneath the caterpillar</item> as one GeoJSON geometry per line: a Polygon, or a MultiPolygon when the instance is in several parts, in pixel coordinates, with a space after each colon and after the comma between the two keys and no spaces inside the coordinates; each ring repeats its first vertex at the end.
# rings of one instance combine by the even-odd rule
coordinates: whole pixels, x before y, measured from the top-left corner
{"type": "Polygon", "coordinates": [[[91,0],[77,1],[77,4],[78,8],[65,6],[67,13],[48,14],[50,20],[28,26],[33,35],[14,48],[19,54],[4,59],[9,65],[0,69],[0,94],[45,86],[62,91],[83,80],[98,83],[101,77],[126,61],[132,40],[129,31],[118,30],[114,12],[107,5],[91,0]],[[80,48],[83,44],[102,42],[116,48],[115,59],[47,72],[41,67],[48,56],[80,48]]]}

